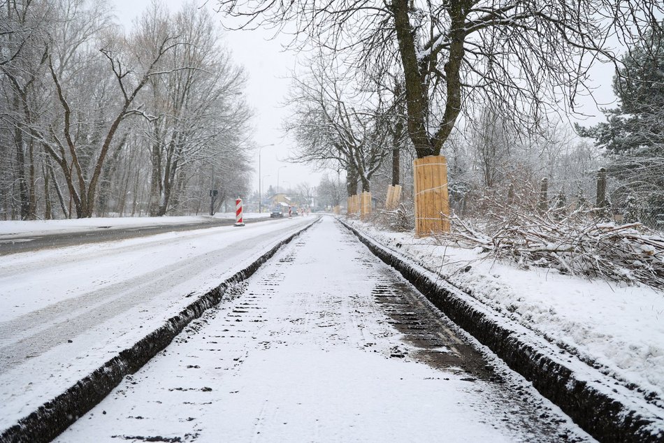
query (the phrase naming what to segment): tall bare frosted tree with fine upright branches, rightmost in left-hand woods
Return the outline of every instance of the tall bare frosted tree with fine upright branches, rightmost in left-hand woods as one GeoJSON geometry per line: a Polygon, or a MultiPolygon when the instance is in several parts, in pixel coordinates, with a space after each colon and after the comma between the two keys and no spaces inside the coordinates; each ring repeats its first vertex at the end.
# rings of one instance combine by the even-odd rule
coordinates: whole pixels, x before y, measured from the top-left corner
{"type": "Polygon", "coordinates": [[[231,64],[210,15],[187,3],[171,16],[154,3],[141,19],[137,45],[150,48],[171,32],[186,44],[161,61],[171,73],[153,77],[149,85],[152,216],[166,214],[173,196],[177,200],[187,168],[193,172],[194,164],[241,155],[250,117],[240,97],[245,74],[231,64]]]}

